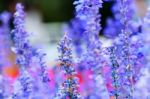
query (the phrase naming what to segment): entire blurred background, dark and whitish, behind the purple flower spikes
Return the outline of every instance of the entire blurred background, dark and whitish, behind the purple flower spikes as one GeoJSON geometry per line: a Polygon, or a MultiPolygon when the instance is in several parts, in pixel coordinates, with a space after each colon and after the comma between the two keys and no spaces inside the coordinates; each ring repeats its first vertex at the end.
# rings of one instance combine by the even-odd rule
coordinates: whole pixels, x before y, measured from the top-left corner
{"type": "MultiPolygon", "coordinates": [[[[0,0],[0,13],[8,11],[13,15],[15,5],[21,2],[26,11],[26,30],[31,33],[30,40],[32,44],[44,50],[47,54],[46,61],[50,66],[54,66],[57,59],[57,44],[63,35],[64,27],[74,18],[75,8],[73,0],[0,0]]],[[[103,36],[106,27],[106,19],[114,17],[111,8],[115,0],[105,0],[102,14],[102,30],[100,35],[103,36]],[[109,2],[108,2],[109,1],[109,2]]],[[[145,16],[150,0],[136,0],[137,16],[145,16]]],[[[12,19],[10,27],[13,28],[12,19]]],[[[0,24],[2,22],[0,21],[0,24]]]]}

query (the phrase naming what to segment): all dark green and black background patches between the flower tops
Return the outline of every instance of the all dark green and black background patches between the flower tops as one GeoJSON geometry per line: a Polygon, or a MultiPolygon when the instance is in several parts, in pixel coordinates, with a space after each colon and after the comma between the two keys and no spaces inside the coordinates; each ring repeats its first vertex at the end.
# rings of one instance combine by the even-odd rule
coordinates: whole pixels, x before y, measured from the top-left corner
{"type": "MultiPolygon", "coordinates": [[[[17,2],[21,2],[25,6],[25,10],[38,10],[42,14],[43,22],[69,22],[74,17],[74,0],[0,0],[0,12],[15,11],[17,2]]],[[[113,17],[111,7],[114,1],[104,2],[103,8],[100,10],[102,31],[108,17],[113,17]]]]}

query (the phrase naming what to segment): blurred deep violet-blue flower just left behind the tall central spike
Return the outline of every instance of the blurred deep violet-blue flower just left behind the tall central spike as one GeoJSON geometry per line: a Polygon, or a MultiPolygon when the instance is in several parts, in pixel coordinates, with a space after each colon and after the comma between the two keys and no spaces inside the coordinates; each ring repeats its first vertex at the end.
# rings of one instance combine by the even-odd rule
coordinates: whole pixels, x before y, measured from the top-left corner
{"type": "Polygon", "coordinates": [[[67,31],[69,37],[72,39],[77,57],[81,57],[83,46],[86,42],[84,37],[84,22],[78,18],[71,20],[70,24],[68,24],[67,31]]]}

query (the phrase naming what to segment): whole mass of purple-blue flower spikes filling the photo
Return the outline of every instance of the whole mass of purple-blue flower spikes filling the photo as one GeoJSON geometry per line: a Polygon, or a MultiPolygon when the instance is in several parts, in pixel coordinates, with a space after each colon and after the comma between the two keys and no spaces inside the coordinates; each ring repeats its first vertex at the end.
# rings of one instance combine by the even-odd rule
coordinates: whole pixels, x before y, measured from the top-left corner
{"type": "Polygon", "coordinates": [[[11,36],[11,16],[1,14],[0,99],[149,99],[150,9],[138,20],[138,30],[139,24],[133,25],[133,0],[116,0],[112,10],[116,20],[108,19],[110,28],[105,28],[111,43],[104,47],[99,10],[106,1],[110,0],[74,1],[76,17],[68,25],[70,33],[60,40],[58,60],[50,69],[46,54],[30,44],[22,4],[16,5],[11,36]],[[10,53],[19,72],[15,79],[8,77],[10,53]]]}

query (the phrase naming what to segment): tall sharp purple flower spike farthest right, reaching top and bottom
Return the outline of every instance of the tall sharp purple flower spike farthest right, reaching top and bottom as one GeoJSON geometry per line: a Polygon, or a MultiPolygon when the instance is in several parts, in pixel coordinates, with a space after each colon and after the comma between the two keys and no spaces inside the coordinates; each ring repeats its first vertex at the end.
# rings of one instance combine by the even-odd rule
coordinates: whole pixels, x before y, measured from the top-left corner
{"type": "Polygon", "coordinates": [[[139,79],[140,70],[143,67],[142,63],[144,63],[144,57],[139,57],[139,53],[142,54],[142,43],[139,39],[140,34],[133,35],[134,31],[131,25],[133,13],[129,6],[132,0],[118,2],[120,6],[120,23],[122,24],[121,34],[119,34],[120,43],[118,44],[121,53],[117,55],[120,59],[120,76],[123,76],[120,78],[120,93],[122,98],[133,98],[134,84],[139,79]]]}

